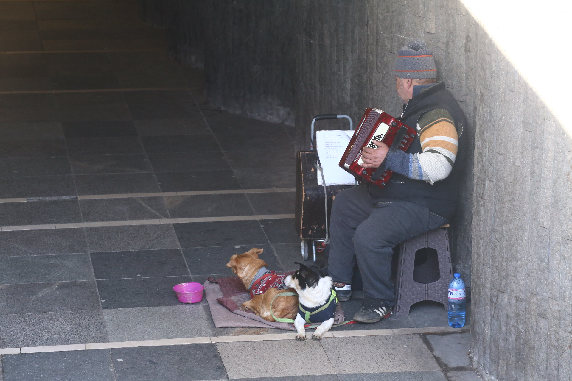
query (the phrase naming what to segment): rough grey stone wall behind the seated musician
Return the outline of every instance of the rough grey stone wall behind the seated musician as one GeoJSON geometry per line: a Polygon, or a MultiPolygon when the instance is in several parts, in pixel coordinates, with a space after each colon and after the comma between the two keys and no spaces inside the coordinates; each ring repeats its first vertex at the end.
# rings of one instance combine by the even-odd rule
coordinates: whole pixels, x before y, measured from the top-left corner
{"type": "MultiPolygon", "coordinates": [[[[176,9],[177,1],[160,3],[176,9]]],[[[204,15],[204,37],[168,33],[177,39],[174,57],[178,49],[203,50],[209,101],[295,124],[299,149],[308,146],[313,115],[358,122],[371,106],[399,114],[395,54],[410,38],[423,38],[439,79],[467,115],[474,151],[451,234],[455,270],[472,286],[474,365],[486,379],[570,380],[572,142],[462,4],[193,3],[204,15]]]]}

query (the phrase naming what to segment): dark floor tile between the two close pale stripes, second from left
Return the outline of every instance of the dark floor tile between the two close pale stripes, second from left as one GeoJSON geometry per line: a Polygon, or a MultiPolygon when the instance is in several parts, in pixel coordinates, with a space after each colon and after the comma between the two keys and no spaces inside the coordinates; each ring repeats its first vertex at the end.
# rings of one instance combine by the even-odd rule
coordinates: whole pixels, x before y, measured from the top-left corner
{"type": "Polygon", "coordinates": [[[80,200],[85,222],[169,218],[162,197],[80,200]]]}

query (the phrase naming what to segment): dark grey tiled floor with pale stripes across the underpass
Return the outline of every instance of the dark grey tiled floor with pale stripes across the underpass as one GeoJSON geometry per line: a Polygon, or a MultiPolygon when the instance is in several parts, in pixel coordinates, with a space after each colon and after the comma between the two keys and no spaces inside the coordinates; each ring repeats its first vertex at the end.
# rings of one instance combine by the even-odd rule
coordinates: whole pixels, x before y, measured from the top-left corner
{"type": "MultiPolygon", "coordinates": [[[[229,257],[252,247],[273,270],[295,268],[291,218],[224,220],[293,213],[292,128],[212,109],[202,72],[164,47],[131,0],[0,1],[0,348],[283,333],[215,328],[205,300],[181,304],[172,287],[230,276],[229,257]],[[174,193],[189,191],[202,194],[174,193]],[[223,220],[130,224],[213,217],[223,220]],[[53,228],[105,222],[125,225],[53,228]],[[26,230],[36,225],[52,227],[26,230]]],[[[359,306],[359,292],[343,304],[349,317],[359,306]]],[[[343,329],[445,325],[443,307],[427,302],[343,329]]],[[[0,381],[443,380],[443,369],[464,379],[464,363],[443,368],[423,340],[6,354],[0,381]],[[369,354],[340,356],[354,347],[369,354]],[[395,354],[417,360],[398,366],[395,354]]]]}

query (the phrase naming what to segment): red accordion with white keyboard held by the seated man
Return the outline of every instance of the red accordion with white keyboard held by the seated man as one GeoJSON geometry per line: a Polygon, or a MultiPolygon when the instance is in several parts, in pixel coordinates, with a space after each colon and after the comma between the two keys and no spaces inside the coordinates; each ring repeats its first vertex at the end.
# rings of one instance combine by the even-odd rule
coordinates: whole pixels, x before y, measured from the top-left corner
{"type": "Polygon", "coordinates": [[[354,176],[359,176],[364,180],[374,183],[380,188],[386,186],[393,171],[386,170],[386,160],[383,160],[379,168],[364,168],[360,166],[362,161],[362,151],[364,147],[377,148],[374,141],[386,143],[390,146],[390,152],[407,150],[417,132],[411,127],[403,124],[390,114],[379,109],[366,109],[362,120],[353,137],[345,149],[340,160],[340,167],[354,176]]]}

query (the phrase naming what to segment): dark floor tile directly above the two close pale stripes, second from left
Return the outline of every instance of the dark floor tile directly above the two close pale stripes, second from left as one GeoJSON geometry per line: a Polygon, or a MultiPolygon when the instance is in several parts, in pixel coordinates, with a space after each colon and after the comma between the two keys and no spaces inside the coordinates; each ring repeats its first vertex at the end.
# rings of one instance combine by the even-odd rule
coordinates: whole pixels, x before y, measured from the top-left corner
{"type": "Polygon", "coordinates": [[[152,173],[77,175],[78,195],[160,192],[152,173]]]}

